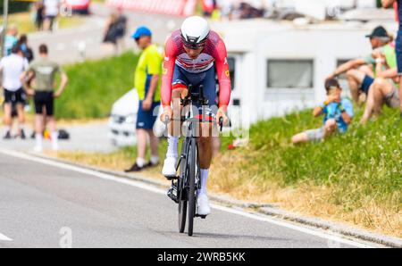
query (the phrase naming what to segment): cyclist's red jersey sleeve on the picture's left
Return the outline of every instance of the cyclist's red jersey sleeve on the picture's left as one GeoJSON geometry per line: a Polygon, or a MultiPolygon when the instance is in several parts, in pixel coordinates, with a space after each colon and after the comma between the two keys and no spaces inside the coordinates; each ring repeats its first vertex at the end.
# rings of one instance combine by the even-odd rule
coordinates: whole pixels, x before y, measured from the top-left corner
{"type": "Polygon", "coordinates": [[[172,79],[177,57],[177,46],[173,42],[172,37],[166,42],[164,54],[161,96],[162,105],[166,107],[170,106],[172,102],[172,79]]]}

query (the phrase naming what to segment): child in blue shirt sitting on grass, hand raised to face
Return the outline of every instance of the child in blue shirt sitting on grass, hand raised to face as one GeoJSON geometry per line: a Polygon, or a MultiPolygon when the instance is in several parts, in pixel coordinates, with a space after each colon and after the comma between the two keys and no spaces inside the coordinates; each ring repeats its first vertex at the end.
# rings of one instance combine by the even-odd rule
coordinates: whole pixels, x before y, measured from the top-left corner
{"type": "Polygon", "coordinates": [[[320,129],[311,129],[292,137],[293,144],[306,143],[309,141],[323,141],[330,137],[338,129],[339,133],[345,133],[348,125],[352,122],[354,111],[353,104],[346,98],[341,98],[342,88],[337,79],[325,81],[327,100],[320,106],[315,107],[313,115],[324,115],[323,126],[320,129]]]}

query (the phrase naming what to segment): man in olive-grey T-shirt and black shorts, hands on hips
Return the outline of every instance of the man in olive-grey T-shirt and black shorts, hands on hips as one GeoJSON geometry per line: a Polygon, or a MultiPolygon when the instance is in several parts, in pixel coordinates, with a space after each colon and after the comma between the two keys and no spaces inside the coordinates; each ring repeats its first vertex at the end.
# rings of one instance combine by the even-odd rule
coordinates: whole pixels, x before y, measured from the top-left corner
{"type": "Polygon", "coordinates": [[[21,79],[25,81],[33,75],[35,76],[35,82],[33,82],[33,85],[30,86],[25,82],[24,87],[27,88],[29,95],[34,96],[36,112],[35,151],[41,152],[43,150],[43,132],[46,128],[44,121],[48,123],[52,147],[56,151],[58,150],[58,136],[56,123],[54,121],[54,98],[58,98],[63,94],[68,78],[60,65],[49,59],[46,45],[39,46],[39,58],[30,63],[28,71],[21,76],[21,79]],[[61,74],[62,79],[60,87],[56,92],[54,92],[54,80],[57,73],[61,74]],[[46,116],[46,120],[44,120],[44,116],[46,116]]]}

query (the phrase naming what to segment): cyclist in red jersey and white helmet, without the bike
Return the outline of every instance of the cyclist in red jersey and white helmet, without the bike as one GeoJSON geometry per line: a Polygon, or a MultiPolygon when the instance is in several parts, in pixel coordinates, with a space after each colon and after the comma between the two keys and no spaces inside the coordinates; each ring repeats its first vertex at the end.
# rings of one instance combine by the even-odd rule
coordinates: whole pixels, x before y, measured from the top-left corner
{"type": "MultiPolygon", "coordinates": [[[[172,120],[173,110],[174,117],[180,118],[180,97],[188,95],[188,85],[190,84],[194,87],[202,85],[204,96],[208,100],[208,104],[204,108],[197,106],[197,117],[202,114],[203,120],[216,120],[217,123],[222,118],[223,124],[227,124],[229,121],[226,112],[230,103],[230,72],[226,46],[222,38],[210,30],[208,22],[197,16],[186,19],[181,28],[174,31],[167,40],[161,89],[162,121],[166,118],[169,121],[172,120]],[[216,95],[215,75],[219,80],[219,97],[216,95]]],[[[203,133],[198,137],[197,142],[201,189],[198,190],[197,212],[199,215],[208,215],[211,209],[206,194],[206,183],[213,157],[212,125],[202,123],[200,129],[203,133]]],[[[163,175],[173,178],[176,177],[179,137],[175,134],[176,132],[173,132],[173,125],[171,125],[169,133],[163,175]]]]}

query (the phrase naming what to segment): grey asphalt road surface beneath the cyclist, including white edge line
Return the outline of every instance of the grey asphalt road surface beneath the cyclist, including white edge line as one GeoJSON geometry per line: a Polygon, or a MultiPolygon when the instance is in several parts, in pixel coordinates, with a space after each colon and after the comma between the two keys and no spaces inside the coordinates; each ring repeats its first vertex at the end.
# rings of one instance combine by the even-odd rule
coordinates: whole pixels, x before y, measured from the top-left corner
{"type": "Polygon", "coordinates": [[[180,235],[176,205],[155,187],[9,153],[0,149],[0,247],[363,246],[219,205],[194,237],[180,235]]]}

